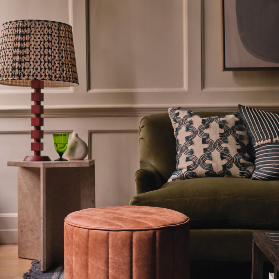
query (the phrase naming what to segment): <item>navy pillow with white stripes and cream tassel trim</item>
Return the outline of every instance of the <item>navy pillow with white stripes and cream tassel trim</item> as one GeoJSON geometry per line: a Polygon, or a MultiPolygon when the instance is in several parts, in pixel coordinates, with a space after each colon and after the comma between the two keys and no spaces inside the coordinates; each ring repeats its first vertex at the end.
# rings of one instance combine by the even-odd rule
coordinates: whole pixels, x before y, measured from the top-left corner
{"type": "Polygon", "coordinates": [[[279,180],[279,116],[245,105],[238,105],[255,153],[251,179],[279,180]]]}

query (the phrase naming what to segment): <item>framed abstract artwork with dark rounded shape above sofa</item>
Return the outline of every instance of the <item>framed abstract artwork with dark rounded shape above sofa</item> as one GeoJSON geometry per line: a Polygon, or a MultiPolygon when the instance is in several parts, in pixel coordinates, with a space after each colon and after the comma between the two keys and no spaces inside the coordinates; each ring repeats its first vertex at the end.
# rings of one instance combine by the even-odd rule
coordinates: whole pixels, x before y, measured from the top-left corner
{"type": "Polygon", "coordinates": [[[222,70],[279,70],[279,1],[221,0],[222,70]]]}

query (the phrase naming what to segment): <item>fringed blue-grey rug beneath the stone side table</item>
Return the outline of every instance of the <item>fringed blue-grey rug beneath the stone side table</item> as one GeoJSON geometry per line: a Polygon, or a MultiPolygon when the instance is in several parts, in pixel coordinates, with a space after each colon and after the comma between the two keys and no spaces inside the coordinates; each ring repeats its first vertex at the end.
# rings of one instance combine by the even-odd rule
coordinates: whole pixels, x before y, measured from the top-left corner
{"type": "Polygon", "coordinates": [[[47,271],[41,271],[40,261],[33,261],[31,268],[22,276],[24,279],[64,279],[64,266],[54,263],[47,271]]]}

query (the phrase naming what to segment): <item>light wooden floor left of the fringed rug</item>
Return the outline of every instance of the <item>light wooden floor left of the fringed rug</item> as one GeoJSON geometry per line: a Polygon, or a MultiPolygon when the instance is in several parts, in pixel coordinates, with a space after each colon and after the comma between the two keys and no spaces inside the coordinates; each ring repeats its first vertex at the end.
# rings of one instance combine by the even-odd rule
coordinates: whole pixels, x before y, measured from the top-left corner
{"type": "Polygon", "coordinates": [[[31,260],[17,257],[17,244],[0,244],[0,279],[22,279],[31,260]]]}

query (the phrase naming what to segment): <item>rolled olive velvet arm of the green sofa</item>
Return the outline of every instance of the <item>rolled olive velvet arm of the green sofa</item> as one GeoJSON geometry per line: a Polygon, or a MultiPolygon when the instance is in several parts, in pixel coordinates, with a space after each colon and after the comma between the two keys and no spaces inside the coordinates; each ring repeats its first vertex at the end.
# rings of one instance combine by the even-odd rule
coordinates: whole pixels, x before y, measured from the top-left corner
{"type": "Polygon", "coordinates": [[[140,162],[140,169],[135,174],[136,194],[157,190],[162,183],[155,167],[148,162],[140,162]]]}

